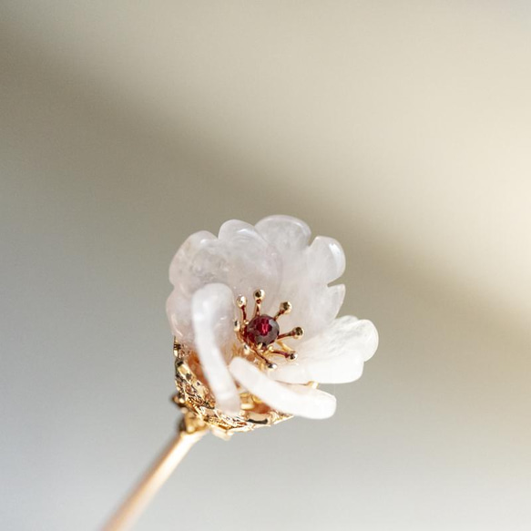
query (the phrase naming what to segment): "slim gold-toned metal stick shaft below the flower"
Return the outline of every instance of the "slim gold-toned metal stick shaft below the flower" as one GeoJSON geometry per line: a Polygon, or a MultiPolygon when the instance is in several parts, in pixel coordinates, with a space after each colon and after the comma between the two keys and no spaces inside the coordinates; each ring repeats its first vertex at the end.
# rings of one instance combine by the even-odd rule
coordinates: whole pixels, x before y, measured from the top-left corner
{"type": "Polygon", "coordinates": [[[158,489],[166,483],[183,457],[188,454],[189,449],[205,433],[205,430],[199,430],[190,434],[181,426],[179,434],[168,444],[148,473],[103,527],[104,531],[125,531],[133,526],[153,496],[157,494],[158,489]]]}

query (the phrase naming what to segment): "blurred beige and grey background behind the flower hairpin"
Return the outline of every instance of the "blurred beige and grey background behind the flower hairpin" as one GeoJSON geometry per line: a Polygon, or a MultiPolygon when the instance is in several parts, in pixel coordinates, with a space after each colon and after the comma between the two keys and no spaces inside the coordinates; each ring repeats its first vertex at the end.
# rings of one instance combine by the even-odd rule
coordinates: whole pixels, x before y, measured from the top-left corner
{"type": "Polygon", "coordinates": [[[342,242],[380,350],[137,528],[529,529],[528,3],[0,10],[2,529],[101,525],[179,416],[169,260],[271,213],[342,242]]]}

